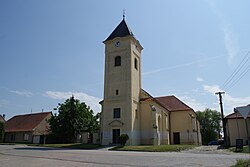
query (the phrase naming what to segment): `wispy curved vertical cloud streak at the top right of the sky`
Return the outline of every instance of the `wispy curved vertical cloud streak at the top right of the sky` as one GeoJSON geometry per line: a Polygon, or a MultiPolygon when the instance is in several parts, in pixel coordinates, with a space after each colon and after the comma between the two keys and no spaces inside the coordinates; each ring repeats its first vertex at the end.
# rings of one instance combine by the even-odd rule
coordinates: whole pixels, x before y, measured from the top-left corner
{"type": "Polygon", "coordinates": [[[224,35],[224,45],[225,49],[228,54],[228,64],[231,65],[233,60],[239,53],[239,42],[237,35],[233,32],[231,24],[225,18],[224,14],[221,10],[216,6],[216,1],[207,0],[212,12],[218,17],[219,21],[221,22],[220,27],[224,35]]]}

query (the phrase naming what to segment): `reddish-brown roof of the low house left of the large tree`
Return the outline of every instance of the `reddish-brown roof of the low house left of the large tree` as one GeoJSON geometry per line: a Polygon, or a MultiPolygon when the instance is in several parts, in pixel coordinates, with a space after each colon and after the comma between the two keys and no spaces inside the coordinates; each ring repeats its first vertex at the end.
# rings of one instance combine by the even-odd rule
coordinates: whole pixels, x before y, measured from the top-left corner
{"type": "Polygon", "coordinates": [[[16,115],[6,122],[5,132],[33,131],[49,114],[52,114],[52,112],[16,115]]]}

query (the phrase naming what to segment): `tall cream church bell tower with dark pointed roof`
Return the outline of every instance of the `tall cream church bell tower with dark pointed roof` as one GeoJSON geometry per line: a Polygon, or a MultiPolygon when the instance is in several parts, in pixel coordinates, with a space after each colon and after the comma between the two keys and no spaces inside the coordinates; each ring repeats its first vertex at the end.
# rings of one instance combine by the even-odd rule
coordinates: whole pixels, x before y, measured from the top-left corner
{"type": "Polygon", "coordinates": [[[120,24],[105,44],[104,99],[100,102],[101,143],[118,144],[128,134],[128,145],[140,144],[140,91],[142,46],[127,26],[120,24]]]}

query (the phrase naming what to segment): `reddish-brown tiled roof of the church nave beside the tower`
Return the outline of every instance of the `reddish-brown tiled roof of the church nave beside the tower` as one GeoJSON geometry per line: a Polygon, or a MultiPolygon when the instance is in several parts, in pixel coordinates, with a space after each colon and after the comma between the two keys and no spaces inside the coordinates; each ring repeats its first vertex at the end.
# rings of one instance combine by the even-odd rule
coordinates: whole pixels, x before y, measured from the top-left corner
{"type": "MultiPolygon", "coordinates": [[[[151,95],[150,95],[151,96],[151,95]]],[[[163,97],[150,97],[150,98],[145,98],[141,99],[141,101],[146,101],[146,100],[153,100],[157,104],[161,105],[168,111],[186,111],[186,110],[193,110],[190,108],[188,105],[183,103],[181,100],[179,100],[175,96],[163,96],[163,97]]]]}

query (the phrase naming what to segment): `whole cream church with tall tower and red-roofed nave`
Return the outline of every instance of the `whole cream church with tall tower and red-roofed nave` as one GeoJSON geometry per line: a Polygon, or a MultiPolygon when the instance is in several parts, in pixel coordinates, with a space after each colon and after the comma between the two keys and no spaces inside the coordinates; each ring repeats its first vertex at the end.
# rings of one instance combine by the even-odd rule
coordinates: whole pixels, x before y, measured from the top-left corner
{"type": "Polygon", "coordinates": [[[100,102],[102,145],[201,144],[195,111],[175,96],[153,97],[141,87],[143,47],[125,17],[103,41],[104,97],[100,102]]]}

